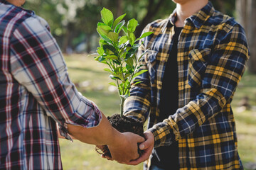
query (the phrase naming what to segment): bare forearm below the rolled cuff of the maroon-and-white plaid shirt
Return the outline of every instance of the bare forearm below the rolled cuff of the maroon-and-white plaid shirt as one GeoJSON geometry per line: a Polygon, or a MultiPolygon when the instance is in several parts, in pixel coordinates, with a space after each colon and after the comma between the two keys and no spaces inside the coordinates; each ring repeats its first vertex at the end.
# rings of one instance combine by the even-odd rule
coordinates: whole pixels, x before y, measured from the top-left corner
{"type": "Polygon", "coordinates": [[[83,128],[68,124],[68,133],[81,142],[92,145],[112,145],[121,137],[121,133],[112,128],[109,121],[102,114],[99,125],[93,128],[83,128]]]}

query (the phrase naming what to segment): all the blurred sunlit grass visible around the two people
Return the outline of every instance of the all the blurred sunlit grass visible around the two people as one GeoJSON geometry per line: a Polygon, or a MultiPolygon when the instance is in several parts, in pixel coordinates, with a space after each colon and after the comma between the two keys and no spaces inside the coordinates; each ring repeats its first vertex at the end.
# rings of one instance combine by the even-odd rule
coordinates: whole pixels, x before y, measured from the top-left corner
{"type": "MultiPolygon", "coordinates": [[[[78,86],[84,96],[97,103],[105,115],[119,113],[119,96],[117,91],[109,91],[110,78],[103,64],[97,63],[86,55],[65,57],[70,79],[78,86]]],[[[256,111],[237,111],[242,97],[248,96],[250,104],[256,106],[256,76],[245,72],[233,99],[233,111],[238,132],[238,152],[244,164],[256,162],[256,111]]],[[[93,145],[78,140],[71,143],[60,140],[60,151],[63,169],[68,170],[139,170],[138,166],[127,166],[117,162],[109,162],[100,158],[93,145]]]]}

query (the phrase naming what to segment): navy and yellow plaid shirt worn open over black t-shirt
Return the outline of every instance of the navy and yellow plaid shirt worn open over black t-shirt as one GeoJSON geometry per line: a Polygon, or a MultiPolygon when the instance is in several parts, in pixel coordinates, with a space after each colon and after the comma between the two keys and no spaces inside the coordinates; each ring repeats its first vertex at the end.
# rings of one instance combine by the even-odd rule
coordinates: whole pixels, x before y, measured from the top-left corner
{"type": "Polygon", "coordinates": [[[154,32],[138,54],[149,49],[141,60],[148,72],[137,77],[142,83],[132,87],[125,113],[143,122],[150,117],[154,147],[178,140],[180,169],[242,169],[230,103],[249,58],[245,32],[210,2],[186,19],[178,40],[178,110],[158,123],[175,21],[174,11],[144,29],[154,32]]]}

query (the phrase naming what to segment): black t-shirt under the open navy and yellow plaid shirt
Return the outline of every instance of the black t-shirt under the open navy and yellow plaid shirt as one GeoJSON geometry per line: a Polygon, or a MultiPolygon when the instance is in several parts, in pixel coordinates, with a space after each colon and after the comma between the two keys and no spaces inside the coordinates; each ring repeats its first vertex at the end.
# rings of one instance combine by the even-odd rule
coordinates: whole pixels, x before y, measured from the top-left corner
{"type": "MultiPolygon", "coordinates": [[[[178,63],[177,63],[177,45],[178,36],[182,28],[174,27],[173,45],[164,70],[160,96],[160,117],[158,122],[169,118],[169,115],[176,113],[178,109],[178,63]]],[[[178,142],[174,142],[169,147],[158,147],[154,149],[151,164],[159,166],[161,169],[178,169],[178,142]]]]}

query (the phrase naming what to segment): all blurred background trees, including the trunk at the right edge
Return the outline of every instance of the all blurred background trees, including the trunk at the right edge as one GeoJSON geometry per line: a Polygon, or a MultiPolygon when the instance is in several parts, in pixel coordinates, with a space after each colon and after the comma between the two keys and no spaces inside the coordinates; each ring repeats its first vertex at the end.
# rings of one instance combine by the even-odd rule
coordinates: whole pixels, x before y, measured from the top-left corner
{"type": "MultiPolygon", "coordinates": [[[[229,16],[236,16],[247,33],[251,57],[250,72],[256,73],[255,47],[255,0],[213,0],[215,9],[229,16]],[[236,8],[235,8],[236,4],[236,8]]],[[[97,21],[100,21],[100,10],[109,8],[114,16],[127,13],[125,19],[136,18],[140,23],[135,35],[141,35],[143,28],[159,18],[167,18],[176,7],[171,0],[27,0],[25,8],[36,11],[48,21],[53,36],[63,52],[68,47],[75,50],[85,42],[86,52],[96,51],[97,21]]]]}

